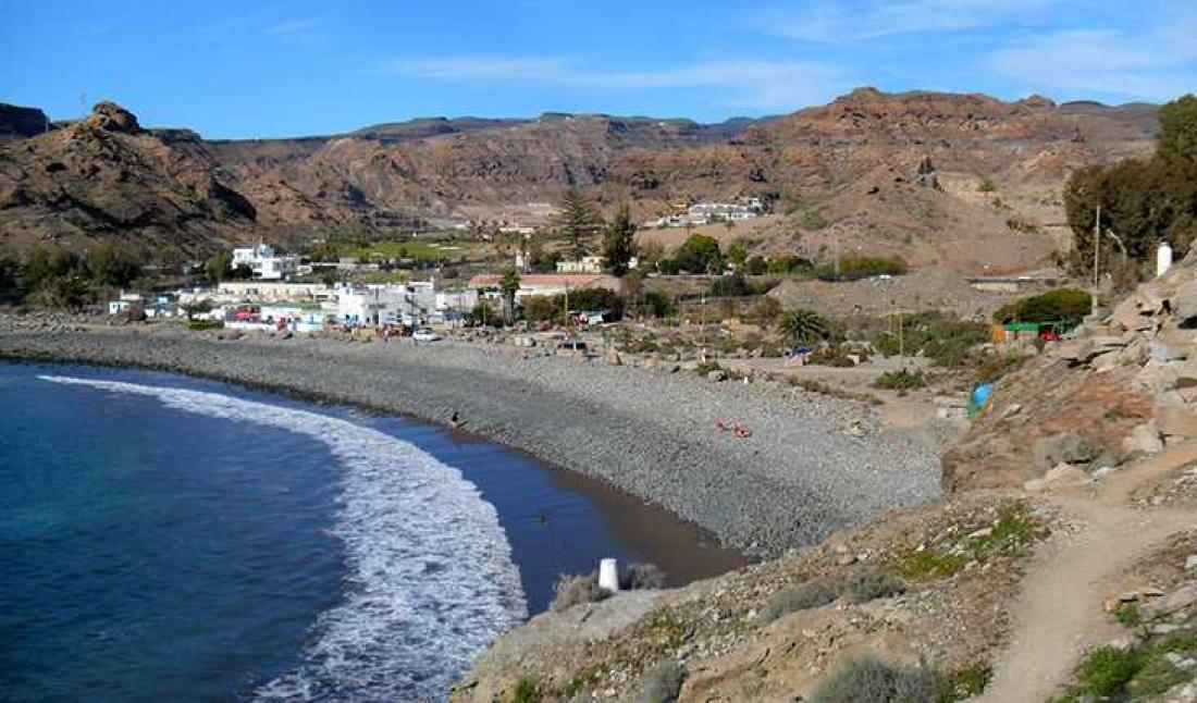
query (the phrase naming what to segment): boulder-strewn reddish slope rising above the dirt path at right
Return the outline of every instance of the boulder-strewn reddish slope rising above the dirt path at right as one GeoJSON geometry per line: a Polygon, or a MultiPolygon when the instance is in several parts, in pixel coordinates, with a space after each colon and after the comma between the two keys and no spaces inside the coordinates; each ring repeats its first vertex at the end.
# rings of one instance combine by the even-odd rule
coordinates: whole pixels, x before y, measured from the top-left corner
{"type": "Polygon", "coordinates": [[[1197,440],[1197,260],[1003,380],[943,457],[948,491],[1084,484],[1197,440]]]}

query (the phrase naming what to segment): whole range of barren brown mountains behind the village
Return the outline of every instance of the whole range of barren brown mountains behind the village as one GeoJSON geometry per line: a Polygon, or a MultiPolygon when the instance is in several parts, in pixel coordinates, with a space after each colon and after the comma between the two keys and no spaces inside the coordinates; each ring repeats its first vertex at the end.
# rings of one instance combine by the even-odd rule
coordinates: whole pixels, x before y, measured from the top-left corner
{"type": "Polygon", "coordinates": [[[686,199],[762,196],[778,216],[746,230],[761,251],[838,246],[920,266],[1022,269],[1068,246],[1068,172],[1149,151],[1154,111],[861,89],[722,125],[546,114],[205,141],[89,120],[0,147],[0,226],[202,248],[262,234],[405,230],[438,217],[511,219],[512,206],[578,184],[603,207],[630,200],[640,217],[686,199]],[[934,171],[924,186],[920,164],[934,171]]]}

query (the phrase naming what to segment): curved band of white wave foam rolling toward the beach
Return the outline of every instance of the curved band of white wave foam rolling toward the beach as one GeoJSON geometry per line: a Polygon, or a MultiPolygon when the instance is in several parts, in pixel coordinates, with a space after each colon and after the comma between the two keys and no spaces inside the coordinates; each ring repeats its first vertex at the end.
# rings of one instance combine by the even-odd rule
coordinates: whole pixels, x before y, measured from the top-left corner
{"type": "Polygon", "coordinates": [[[43,375],[54,383],[157,398],[196,414],[299,432],[342,467],[333,534],[347,593],[322,613],[298,671],[266,701],[443,698],[473,657],[528,614],[494,507],[409,442],[339,418],[184,388],[43,375]]]}

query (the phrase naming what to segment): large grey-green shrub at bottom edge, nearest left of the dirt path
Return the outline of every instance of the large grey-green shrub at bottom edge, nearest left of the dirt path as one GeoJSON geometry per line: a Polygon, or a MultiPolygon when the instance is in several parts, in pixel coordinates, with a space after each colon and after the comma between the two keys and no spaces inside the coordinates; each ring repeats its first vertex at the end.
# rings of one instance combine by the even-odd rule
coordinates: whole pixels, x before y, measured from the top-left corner
{"type": "Polygon", "coordinates": [[[873,656],[851,659],[825,678],[810,703],[928,703],[937,697],[935,674],[891,667],[873,656]]]}

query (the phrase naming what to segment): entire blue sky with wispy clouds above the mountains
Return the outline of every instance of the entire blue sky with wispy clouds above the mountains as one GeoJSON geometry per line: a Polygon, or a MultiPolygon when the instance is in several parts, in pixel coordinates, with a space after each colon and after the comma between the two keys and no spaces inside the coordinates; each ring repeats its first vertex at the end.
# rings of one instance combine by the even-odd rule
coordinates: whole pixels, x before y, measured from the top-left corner
{"type": "Polygon", "coordinates": [[[0,102],[206,137],[426,115],[788,113],[855,86],[1165,101],[1197,1],[0,0],[0,102]]]}

